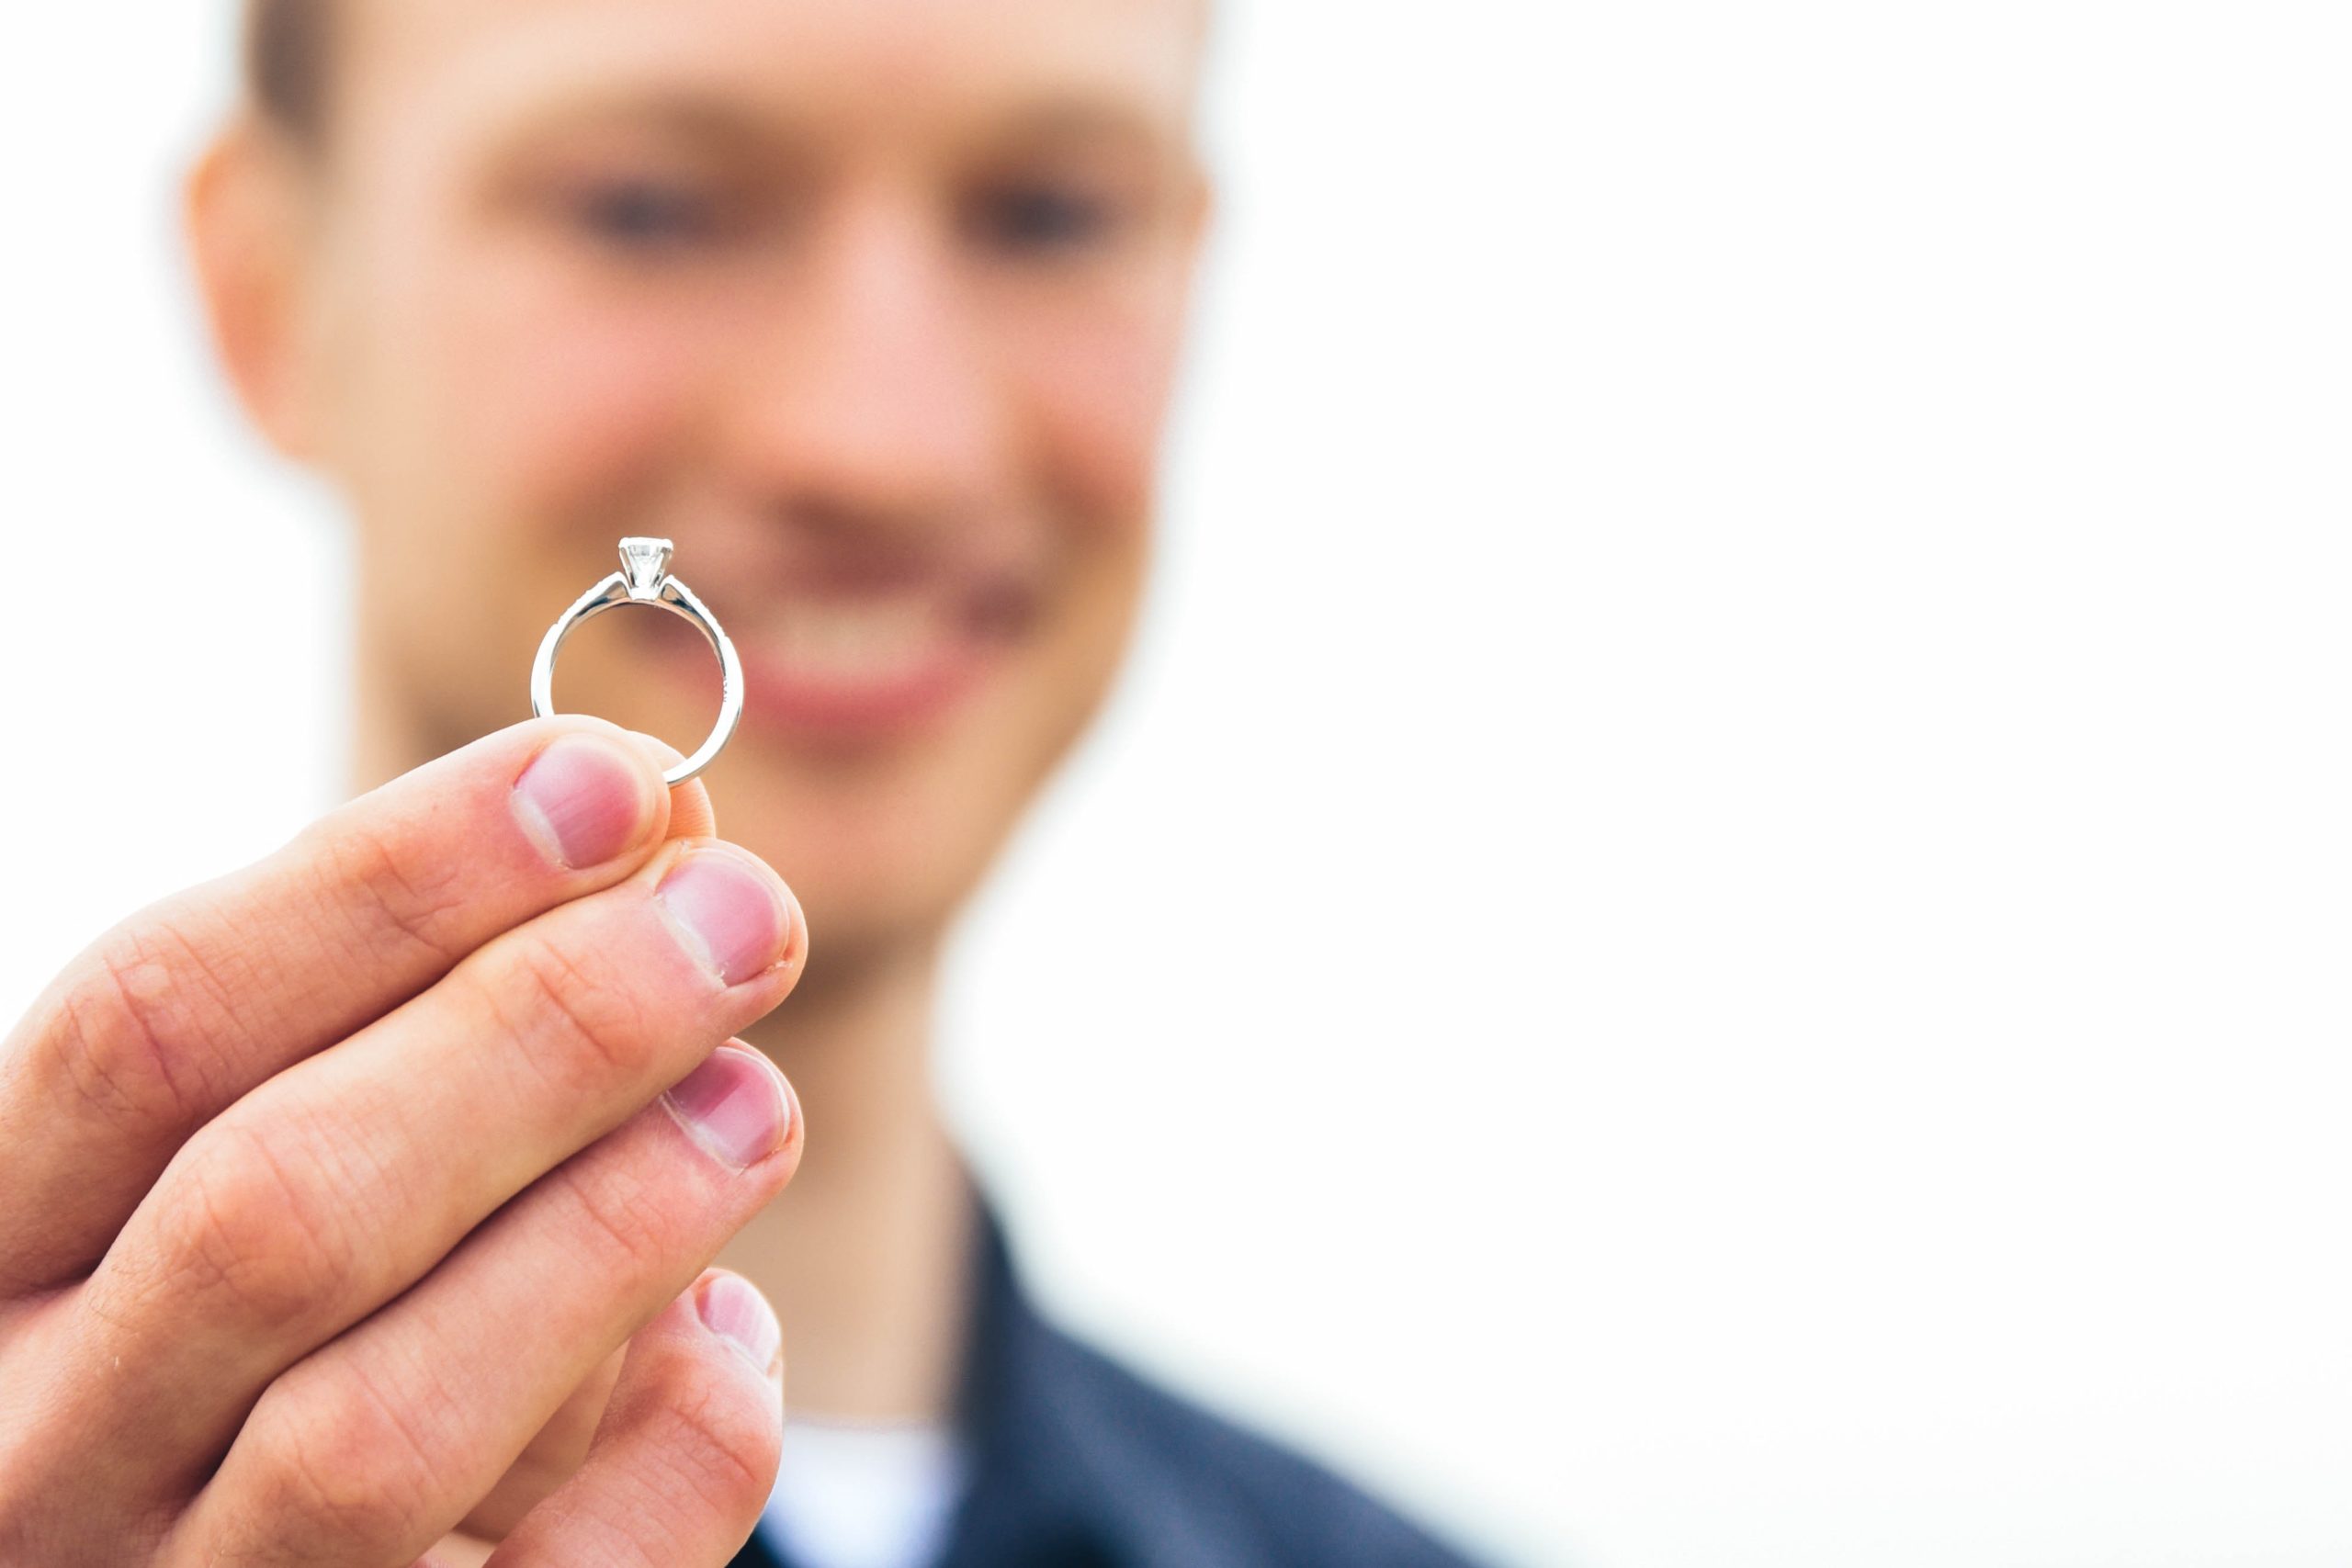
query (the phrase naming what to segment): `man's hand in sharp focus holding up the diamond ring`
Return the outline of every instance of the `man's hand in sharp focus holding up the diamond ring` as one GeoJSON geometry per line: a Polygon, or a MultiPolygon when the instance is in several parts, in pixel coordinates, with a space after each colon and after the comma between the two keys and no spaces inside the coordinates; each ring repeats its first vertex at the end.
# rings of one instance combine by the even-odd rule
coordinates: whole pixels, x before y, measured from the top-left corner
{"type": "Polygon", "coordinates": [[[781,1335],[706,1265],[800,1114],[729,1037],[807,926],[661,766],[597,719],[489,736],[122,922],[16,1023],[0,1563],[416,1563],[583,1401],[496,1568],[741,1547],[781,1335]]]}

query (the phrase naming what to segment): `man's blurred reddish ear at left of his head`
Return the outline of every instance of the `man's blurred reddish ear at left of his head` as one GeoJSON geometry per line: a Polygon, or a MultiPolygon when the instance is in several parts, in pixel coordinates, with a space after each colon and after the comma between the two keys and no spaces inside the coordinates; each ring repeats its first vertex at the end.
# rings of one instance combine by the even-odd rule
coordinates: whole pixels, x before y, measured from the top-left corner
{"type": "Polygon", "coordinates": [[[318,456],[313,200],[303,155],[249,115],[188,172],[188,249],[214,348],[247,416],[296,461],[318,456]]]}

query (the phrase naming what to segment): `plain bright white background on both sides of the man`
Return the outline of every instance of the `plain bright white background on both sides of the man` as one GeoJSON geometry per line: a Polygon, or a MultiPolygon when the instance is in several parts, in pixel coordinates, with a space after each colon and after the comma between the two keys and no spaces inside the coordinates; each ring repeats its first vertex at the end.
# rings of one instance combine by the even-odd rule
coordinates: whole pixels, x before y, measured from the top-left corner
{"type": "MultiPolygon", "coordinates": [[[[7,1011],[341,780],[223,16],[0,24],[7,1011]]],[[[1517,1561],[2352,1559],[2347,45],[1232,0],[1160,599],[948,1018],[1051,1300],[1517,1561]]]]}

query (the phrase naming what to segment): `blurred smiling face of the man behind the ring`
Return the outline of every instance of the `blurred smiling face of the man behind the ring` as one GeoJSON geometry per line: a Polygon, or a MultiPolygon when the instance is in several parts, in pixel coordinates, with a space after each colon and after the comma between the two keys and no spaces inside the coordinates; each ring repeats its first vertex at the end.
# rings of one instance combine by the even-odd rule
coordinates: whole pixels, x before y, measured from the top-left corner
{"type": "MultiPolygon", "coordinates": [[[[708,773],[835,959],[927,938],[1101,703],[1190,273],[1192,0],[346,0],[296,444],[369,701],[527,717],[623,534],[743,654],[708,773]]],[[[694,750],[652,611],[557,705],[694,750]]]]}

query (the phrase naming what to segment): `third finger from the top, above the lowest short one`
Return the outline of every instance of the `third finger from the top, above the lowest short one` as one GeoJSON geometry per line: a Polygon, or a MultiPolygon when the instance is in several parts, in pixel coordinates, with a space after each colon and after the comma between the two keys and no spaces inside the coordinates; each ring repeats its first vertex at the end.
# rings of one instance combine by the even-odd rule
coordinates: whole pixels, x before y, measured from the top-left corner
{"type": "Polygon", "coordinates": [[[198,1559],[414,1559],[783,1190],[795,1128],[783,1074],[722,1046],[273,1382],[186,1514],[198,1559]]]}

